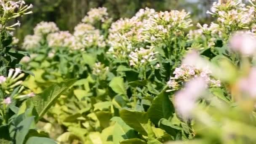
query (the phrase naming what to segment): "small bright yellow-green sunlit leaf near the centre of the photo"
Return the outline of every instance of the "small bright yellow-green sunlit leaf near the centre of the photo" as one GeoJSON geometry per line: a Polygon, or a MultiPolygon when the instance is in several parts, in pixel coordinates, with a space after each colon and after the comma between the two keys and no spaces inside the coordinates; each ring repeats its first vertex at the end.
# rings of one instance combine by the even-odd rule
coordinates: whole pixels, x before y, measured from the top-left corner
{"type": "Polygon", "coordinates": [[[126,94],[125,84],[122,77],[114,77],[109,83],[109,86],[115,93],[126,94]]]}

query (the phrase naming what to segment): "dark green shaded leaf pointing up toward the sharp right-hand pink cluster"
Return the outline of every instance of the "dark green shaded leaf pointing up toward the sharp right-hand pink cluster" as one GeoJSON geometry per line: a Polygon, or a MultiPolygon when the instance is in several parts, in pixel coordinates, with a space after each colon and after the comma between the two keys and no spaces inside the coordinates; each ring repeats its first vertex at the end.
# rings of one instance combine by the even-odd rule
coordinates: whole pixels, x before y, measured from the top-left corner
{"type": "Polygon", "coordinates": [[[164,90],[152,101],[148,109],[149,119],[158,125],[158,121],[162,118],[168,119],[174,113],[174,107],[171,103],[168,93],[164,90]]]}

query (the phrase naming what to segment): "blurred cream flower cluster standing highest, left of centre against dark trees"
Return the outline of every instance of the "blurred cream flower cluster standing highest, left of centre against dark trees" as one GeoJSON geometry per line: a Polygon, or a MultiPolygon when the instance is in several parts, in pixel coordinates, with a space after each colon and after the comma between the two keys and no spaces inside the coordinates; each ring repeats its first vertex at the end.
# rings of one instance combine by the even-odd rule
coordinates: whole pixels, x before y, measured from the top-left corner
{"type": "Polygon", "coordinates": [[[107,13],[107,8],[99,7],[99,8],[92,8],[88,11],[87,16],[82,19],[82,22],[88,24],[95,24],[96,22],[100,21],[104,23],[109,19],[107,13]]]}

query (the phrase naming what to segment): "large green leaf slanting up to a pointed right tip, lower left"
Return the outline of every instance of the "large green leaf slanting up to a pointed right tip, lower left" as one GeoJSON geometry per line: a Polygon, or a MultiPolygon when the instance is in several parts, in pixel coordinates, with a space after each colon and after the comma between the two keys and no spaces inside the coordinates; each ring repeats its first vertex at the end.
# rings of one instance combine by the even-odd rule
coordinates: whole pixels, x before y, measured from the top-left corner
{"type": "Polygon", "coordinates": [[[75,81],[76,79],[72,79],[54,84],[46,88],[43,93],[33,97],[32,101],[34,102],[35,109],[39,114],[36,121],[43,117],[45,112],[47,112],[47,110],[56,102],[61,94],[67,91],[75,83],[75,81]]]}

